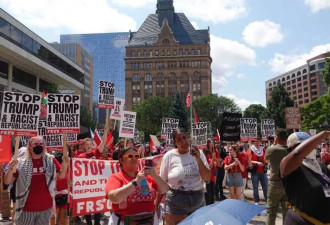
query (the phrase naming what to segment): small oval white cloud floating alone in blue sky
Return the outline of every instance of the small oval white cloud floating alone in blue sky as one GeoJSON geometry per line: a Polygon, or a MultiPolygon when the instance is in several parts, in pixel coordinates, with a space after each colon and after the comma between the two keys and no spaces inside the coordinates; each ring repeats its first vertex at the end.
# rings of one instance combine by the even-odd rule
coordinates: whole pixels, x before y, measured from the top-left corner
{"type": "Polygon", "coordinates": [[[254,47],[266,47],[283,40],[281,25],[269,20],[250,23],[242,34],[244,41],[254,47]]]}

